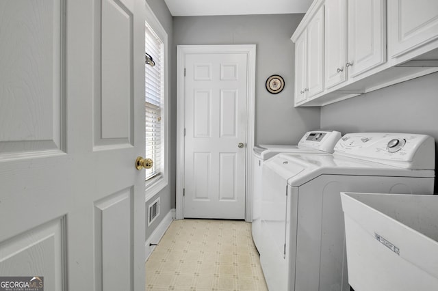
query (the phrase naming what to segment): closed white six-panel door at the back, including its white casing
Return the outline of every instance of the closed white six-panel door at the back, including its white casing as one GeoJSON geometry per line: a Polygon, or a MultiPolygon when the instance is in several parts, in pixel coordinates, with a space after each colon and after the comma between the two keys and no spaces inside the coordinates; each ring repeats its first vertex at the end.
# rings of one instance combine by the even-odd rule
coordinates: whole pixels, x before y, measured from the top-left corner
{"type": "Polygon", "coordinates": [[[254,45],[178,46],[177,219],[250,221],[254,65],[254,45]]]}

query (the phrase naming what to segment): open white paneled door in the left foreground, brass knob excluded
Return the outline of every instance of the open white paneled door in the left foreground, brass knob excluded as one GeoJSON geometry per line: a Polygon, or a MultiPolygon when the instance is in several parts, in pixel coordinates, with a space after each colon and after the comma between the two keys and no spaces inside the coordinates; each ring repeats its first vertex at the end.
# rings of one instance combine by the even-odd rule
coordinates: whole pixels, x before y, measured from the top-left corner
{"type": "Polygon", "coordinates": [[[144,3],[0,12],[0,275],[143,291],[144,3]]]}

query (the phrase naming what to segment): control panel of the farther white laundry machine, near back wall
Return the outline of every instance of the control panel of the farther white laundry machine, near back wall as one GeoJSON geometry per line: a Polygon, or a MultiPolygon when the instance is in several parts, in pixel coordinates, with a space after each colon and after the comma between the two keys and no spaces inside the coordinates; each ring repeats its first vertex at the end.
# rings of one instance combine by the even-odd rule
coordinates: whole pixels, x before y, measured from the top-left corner
{"type": "Polygon", "coordinates": [[[308,131],[300,139],[298,147],[313,148],[315,150],[332,153],[335,144],[341,137],[341,133],[336,130],[308,131]]]}

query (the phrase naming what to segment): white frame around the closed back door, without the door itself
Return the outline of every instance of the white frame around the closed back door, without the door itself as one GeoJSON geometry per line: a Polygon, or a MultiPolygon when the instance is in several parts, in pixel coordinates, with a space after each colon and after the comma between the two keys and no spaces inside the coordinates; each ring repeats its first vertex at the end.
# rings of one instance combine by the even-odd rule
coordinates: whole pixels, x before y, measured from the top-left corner
{"type": "Polygon", "coordinates": [[[246,178],[245,221],[253,219],[253,147],[255,133],[255,44],[179,45],[177,46],[177,185],[176,219],[184,219],[184,126],[185,126],[185,55],[198,53],[244,53],[248,57],[246,99],[246,178]]]}

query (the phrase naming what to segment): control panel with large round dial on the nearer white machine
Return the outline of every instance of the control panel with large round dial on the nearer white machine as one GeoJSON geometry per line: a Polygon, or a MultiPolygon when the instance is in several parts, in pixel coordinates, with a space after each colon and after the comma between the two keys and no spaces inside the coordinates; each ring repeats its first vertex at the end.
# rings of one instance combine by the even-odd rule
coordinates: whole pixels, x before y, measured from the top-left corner
{"type": "Polygon", "coordinates": [[[408,133],[348,133],[335,154],[406,169],[435,169],[435,140],[408,133]]]}

